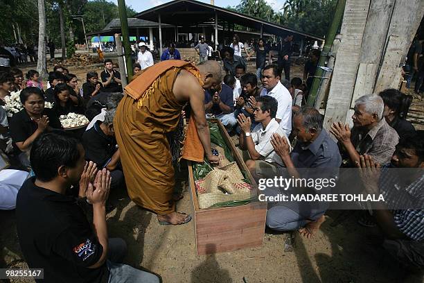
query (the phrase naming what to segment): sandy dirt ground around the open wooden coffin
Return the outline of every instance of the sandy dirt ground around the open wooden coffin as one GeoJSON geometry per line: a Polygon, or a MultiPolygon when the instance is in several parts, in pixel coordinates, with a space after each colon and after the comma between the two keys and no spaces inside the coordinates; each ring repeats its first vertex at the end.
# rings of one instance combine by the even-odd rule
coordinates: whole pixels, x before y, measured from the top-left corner
{"type": "MultiPolygon", "coordinates": [[[[84,82],[91,69],[69,71],[84,82]]],[[[300,74],[299,70],[294,66],[292,74],[300,74]]],[[[284,251],[288,234],[266,233],[261,247],[198,257],[194,219],[186,225],[159,225],[156,216],[135,205],[126,191],[114,191],[110,199],[116,209],[107,214],[109,237],[127,242],[125,263],[157,273],[163,282],[405,282],[405,271],[368,243],[369,230],[357,224],[357,212],[328,211],[314,238],[294,233],[292,251],[284,251]]],[[[194,214],[187,187],[177,210],[194,214]]],[[[26,266],[17,241],[15,211],[0,212],[0,227],[0,268],[26,266]]]]}

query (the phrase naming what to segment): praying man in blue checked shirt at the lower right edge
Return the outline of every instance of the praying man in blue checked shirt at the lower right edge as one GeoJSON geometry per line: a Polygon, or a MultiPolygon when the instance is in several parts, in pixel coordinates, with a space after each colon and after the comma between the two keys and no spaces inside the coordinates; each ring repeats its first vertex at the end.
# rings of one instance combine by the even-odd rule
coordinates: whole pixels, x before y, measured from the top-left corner
{"type": "Polygon", "coordinates": [[[357,166],[360,167],[365,193],[382,194],[385,198],[385,202],[369,203],[373,209],[374,221],[380,228],[375,231],[380,236],[376,237],[380,240],[377,243],[381,244],[401,266],[407,268],[408,273],[411,271],[422,273],[424,269],[423,137],[417,135],[401,139],[391,157],[391,163],[382,166],[382,169],[369,155],[361,155],[357,166]]]}

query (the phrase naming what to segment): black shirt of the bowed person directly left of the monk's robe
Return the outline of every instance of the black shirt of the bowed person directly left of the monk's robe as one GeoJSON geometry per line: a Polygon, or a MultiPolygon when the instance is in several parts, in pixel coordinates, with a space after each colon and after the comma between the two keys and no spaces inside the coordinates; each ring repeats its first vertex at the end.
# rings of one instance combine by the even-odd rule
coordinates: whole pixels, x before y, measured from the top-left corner
{"type": "Polygon", "coordinates": [[[97,121],[94,126],[82,135],[82,145],[85,149],[85,158],[97,164],[97,168],[103,168],[109,163],[116,151],[116,140],[105,135],[97,121]]]}

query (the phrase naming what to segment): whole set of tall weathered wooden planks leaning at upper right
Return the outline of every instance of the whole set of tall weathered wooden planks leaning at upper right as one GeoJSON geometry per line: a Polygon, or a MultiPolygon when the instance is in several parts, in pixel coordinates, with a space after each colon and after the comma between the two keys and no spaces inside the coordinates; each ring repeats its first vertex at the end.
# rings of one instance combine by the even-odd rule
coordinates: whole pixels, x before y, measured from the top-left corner
{"type": "Polygon", "coordinates": [[[423,0],[346,1],[324,126],[351,122],[355,99],[398,88],[400,69],[424,15],[423,0]]]}

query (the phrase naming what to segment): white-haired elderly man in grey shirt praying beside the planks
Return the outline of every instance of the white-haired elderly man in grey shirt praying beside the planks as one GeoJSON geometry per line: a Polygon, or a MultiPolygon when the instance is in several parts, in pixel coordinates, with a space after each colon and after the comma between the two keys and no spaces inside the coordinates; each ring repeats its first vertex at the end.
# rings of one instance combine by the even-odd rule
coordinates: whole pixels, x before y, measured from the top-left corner
{"type": "Polygon", "coordinates": [[[390,162],[399,136],[383,118],[384,108],[380,96],[361,96],[355,101],[352,130],[341,122],[331,126],[330,132],[346,151],[347,158],[343,162],[346,166],[355,166],[364,153],[380,164],[390,162]]]}

